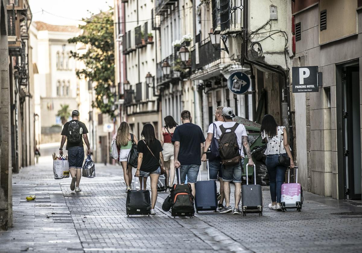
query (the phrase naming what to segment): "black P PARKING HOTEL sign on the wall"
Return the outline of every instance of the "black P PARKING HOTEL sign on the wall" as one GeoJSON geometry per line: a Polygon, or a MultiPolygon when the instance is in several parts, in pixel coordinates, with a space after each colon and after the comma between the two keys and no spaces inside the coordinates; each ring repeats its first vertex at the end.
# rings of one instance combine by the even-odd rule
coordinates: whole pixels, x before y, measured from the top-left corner
{"type": "Polygon", "coordinates": [[[318,92],[318,66],[292,67],[292,92],[318,92]]]}

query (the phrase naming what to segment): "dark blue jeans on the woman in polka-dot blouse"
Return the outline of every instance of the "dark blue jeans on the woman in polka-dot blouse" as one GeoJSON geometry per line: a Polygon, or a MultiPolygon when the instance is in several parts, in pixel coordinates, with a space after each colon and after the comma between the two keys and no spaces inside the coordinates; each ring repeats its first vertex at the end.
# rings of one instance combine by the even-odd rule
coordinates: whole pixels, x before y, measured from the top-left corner
{"type": "MultiPolygon", "coordinates": [[[[286,154],[282,154],[286,155],[286,154]]],[[[279,165],[278,154],[266,156],[266,169],[269,173],[271,201],[280,203],[282,183],[285,179],[287,167],[279,165]]]]}

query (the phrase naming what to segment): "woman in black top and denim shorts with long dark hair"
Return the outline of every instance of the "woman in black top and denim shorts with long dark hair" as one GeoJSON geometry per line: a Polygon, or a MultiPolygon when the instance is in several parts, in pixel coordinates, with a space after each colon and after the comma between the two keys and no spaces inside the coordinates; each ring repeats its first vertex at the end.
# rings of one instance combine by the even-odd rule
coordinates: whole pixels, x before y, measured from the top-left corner
{"type": "MultiPolygon", "coordinates": [[[[156,139],[155,129],[150,123],[143,126],[141,136],[144,140],[140,140],[137,144],[138,154],[138,166],[136,171],[136,177],[143,177],[143,189],[146,190],[147,178],[151,178],[151,194],[152,194],[152,205],[151,214],[156,214],[155,204],[157,200],[157,183],[161,173],[161,166],[164,168],[164,161],[162,155],[161,142],[156,139]]],[[[141,183],[140,178],[140,183],[141,183]]]]}

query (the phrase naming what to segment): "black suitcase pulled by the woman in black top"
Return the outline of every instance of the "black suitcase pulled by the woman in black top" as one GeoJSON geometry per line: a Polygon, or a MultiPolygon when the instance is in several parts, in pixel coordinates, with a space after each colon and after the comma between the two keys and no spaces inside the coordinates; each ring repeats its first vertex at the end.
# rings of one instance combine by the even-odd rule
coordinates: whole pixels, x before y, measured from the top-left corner
{"type": "Polygon", "coordinates": [[[136,176],[134,180],[134,190],[127,193],[126,214],[130,215],[148,215],[151,214],[151,197],[149,190],[143,189],[143,180],[141,190],[136,190],[136,176]]]}

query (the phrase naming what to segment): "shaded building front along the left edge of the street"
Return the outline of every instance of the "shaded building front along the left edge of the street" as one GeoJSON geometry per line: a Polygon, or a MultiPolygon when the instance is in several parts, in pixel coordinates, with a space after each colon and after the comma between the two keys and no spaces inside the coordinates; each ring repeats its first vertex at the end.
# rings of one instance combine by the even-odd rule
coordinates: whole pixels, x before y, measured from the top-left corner
{"type": "Polygon", "coordinates": [[[0,0],[0,229],[12,225],[12,173],[34,164],[34,79],[27,0],[0,0]]]}

